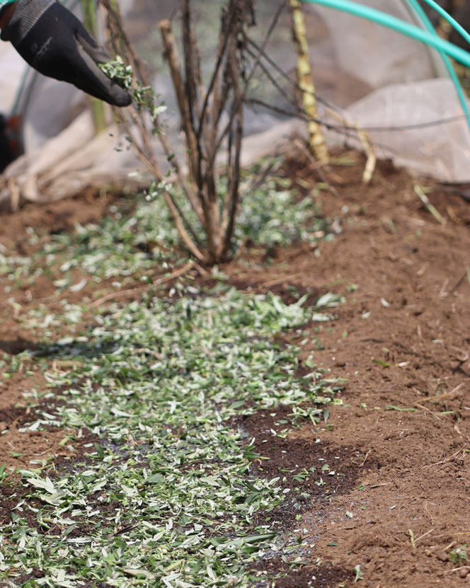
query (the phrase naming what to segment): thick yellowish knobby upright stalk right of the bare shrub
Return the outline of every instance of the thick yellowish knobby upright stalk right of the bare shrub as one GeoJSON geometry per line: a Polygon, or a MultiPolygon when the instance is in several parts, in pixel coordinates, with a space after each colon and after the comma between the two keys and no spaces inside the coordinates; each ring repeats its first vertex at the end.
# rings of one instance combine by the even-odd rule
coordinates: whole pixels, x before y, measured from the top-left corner
{"type": "Polygon", "coordinates": [[[306,40],[306,28],[304,13],[302,12],[299,0],[290,0],[290,9],[292,11],[292,31],[294,42],[297,47],[297,76],[299,78],[299,88],[302,92],[302,105],[309,116],[307,129],[309,132],[309,149],[320,163],[328,163],[328,149],[325,143],[325,137],[320,125],[315,120],[319,119],[316,108],[314,79],[311,74],[309,45],[306,40]]]}

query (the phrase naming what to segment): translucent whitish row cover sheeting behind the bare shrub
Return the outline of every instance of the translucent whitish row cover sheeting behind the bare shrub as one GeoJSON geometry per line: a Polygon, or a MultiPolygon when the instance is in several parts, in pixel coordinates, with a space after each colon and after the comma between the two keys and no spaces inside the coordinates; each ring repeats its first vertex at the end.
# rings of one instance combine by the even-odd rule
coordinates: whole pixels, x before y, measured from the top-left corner
{"type": "MultiPolygon", "coordinates": [[[[419,24],[404,0],[361,1],[419,24]]],[[[168,138],[176,151],[181,150],[176,100],[156,33],[156,23],[173,15],[175,3],[121,3],[137,52],[149,64],[154,88],[168,106],[168,138]]],[[[223,5],[224,0],[193,2],[205,76],[210,75],[223,5]]],[[[257,24],[250,35],[258,44],[263,42],[277,6],[273,0],[257,0],[257,24]]],[[[399,166],[446,182],[470,182],[469,128],[440,55],[399,33],[346,13],[314,4],[305,4],[305,12],[316,91],[319,98],[326,100],[326,104],[320,103],[321,117],[338,125],[338,120],[328,115],[328,108],[334,108],[348,125],[370,129],[369,137],[378,154],[392,158],[399,166]]],[[[177,28],[178,19],[175,23],[177,28]]],[[[283,74],[269,64],[267,67],[287,94],[293,96],[296,55],[289,11],[282,13],[266,52],[283,74]]],[[[73,86],[28,74],[18,100],[24,71],[25,64],[13,48],[0,42],[0,111],[8,113],[16,102],[25,119],[26,154],[4,175],[17,186],[20,197],[57,199],[83,188],[86,182],[97,185],[106,178],[120,183],[134,181],[129,173],[142,180],[142,166],[132,152],[116,151],[116,131],[113,137],[106,134],[106,139],[93,139],[91,125],[84,122],[88,117],[82,116],[81,122],[71,125],[88,104],[86,96],[73,86]]],[[[259,72],[253,81],[248,96],[263,100],[276,110],[246,108],[246,136],[253,140],[246,141],[245,161],[268,153],[275,140],[304,128],[302,122],[280,114],[280,110],[292,112],[292,105],[265,74],[259,72]],[[263,141],[265,145],[261,144],[263,141]],[[256,149],[252,149],[255,144],[256,149]]],[[[345,141],[345,133],[328,133],[328,137],[345,141]]],[[[352,144],[360,146],[354,139],[352,144]]],[[[5,186],[0,190],[0,203],[2,198],[8,198],[5,186]]]]}

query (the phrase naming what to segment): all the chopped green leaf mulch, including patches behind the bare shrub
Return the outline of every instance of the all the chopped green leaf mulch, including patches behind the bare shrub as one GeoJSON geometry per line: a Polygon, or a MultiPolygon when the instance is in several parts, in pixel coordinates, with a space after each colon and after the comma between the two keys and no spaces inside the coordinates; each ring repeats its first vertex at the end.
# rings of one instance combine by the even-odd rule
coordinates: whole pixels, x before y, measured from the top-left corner
{"type": "MultiPolygon", "coordinates": [[[[258,234],[266,246],[325,227],[309,197],[296,202],[274,180],[247,197],[244,211],[238,238],[258,234]]],[[[40,238],[31,229],[30,244],[40,238]]],[[[247,572],[254,562],[282,557],[295,566],[309,549],[268,517],[302,490],[251,471],[265,456],[237,423],[278,405],[290,407],[286,427],[316,423],[324,405],[338,402],[338,381],[313,363],[297,374],[303,326],[331,320],[338,297],[306,308],[306,296],[286,305],[223,277],[210,291],[183,281],[161,296],[98,306],[88,326],[89,297],[62,301],[63,313],[57,304],[23,313],[15,301],[16,284],[42,273],[62,296],[90,280],[115,277],[119,287],[122,277],[146,279],[156,261],[169,269],[171,255],[139,252],[149,241],[176,243],[160,200],[141,202],[130,218],[112,209],[100,226],[52,236],[30,259],[0,252],[18,321],[42,336],[34,352],[4,359],[2,371],[37,362],[50,383],[30,391],[35,420],[23,430],[57,427],[79,456],[32,462],[14,477],[0,470],[11,510],[0,529],[1,585],[243,587],[260,580],[247,572]],[[74,268],[88,277],[73,284],[74,268]],[[285,344],[287,331],[299,347],[285,344]],[[260,524],[263,514],[269,523],[260,524]]]]}

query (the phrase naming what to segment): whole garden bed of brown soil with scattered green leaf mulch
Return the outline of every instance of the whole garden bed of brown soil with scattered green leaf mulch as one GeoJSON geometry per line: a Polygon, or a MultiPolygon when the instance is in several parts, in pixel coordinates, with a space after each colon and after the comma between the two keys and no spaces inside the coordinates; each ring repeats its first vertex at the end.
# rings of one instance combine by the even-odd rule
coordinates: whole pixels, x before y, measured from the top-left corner
{"type": "Polygon", "coordinates": [[[6,585],[469,584],[470,207],[363,165],[288,158],[217,272],[132,197],[2,217],[6,585]]]}

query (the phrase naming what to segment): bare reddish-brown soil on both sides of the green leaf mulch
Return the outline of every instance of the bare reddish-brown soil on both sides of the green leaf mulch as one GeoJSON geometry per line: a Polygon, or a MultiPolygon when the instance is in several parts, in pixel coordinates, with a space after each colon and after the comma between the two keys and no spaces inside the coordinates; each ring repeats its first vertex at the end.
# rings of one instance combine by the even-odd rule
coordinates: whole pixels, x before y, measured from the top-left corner
{"type": "MultiPolygon", "coordinates": [[[[255,462],[253,471],[279,475],[286,487],[294,480],[304,492],[302,500],[299,494],[287,497],[272,519],[280,531],[309,544],[302,554],[306,563],[292,570],[274,554],[258,562],[256,585],[267,586],[263,578],[285,570],[277,588],[351,586],[352,568],[359,565],[363,586],[470,586],[465,562],[452,562],[454,548],[470,544],[470,204],[428,183],[430,200],[445,217],[441,225],[421,204],[407,173],[381,163],[365,187],[362,158],[348,156],[357,158],[356,166],[327,173],[338,195],[321,190],[312,196],[336,219],[341,230],[335,240],[317,250],[275,250],[264,265],[248,251],[224,267],[237,287],[272,289],[287,301],[292,286],[312,296],[347,296],[331,311],[336,321],[307,325],[299,355],[299,373],[311,371],[304,367],[311,357],[317,367],[347,380],[339,395],[343,405],[330,408],[326,423],[292,429],[285,439],[270,431],[288,426],[280,422],[289,413],[285,407],[243,422],[258,452],[269,458],[255,462]],[[329,470],[322,472],[325,463],[329,470]],[[313,466],[311,476],[295,478],[313,466]]],[[[302,194],[318,179],[298,159],[285,175],[302,194]]],[[[79,209],[84,214],[82,201],[51,204],[47,214],[29,207],[2,219],[0,242],[18,248],[34,219],[45,231],[55,230],[62,222],[56,206],[61,215],[70,207],[67,222],[79,209]]],[[[88,198],[86,214],[99,218],[104,211],[99,198],[88,198]]],[[[2,311],[11,310],[4,285],[0,278],[2,311]]],[[[35,344],[14,317],[2,316],[4,352],[35,344]]],[[[299,342],[295,333],[285,337],[299,342]]],[[[0,452],[21,467],[69,451],[59,445],[64,432],[47,432],[33,443],[19,432],[28,420],[23,391],[33,387],[44,391],[45,381],[24,368],[0,388],[1,426],[8,427],[0,452]],[[6,444],[23,455],[6,453],[6,444]]]]}

